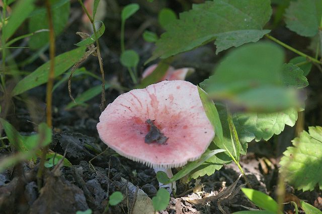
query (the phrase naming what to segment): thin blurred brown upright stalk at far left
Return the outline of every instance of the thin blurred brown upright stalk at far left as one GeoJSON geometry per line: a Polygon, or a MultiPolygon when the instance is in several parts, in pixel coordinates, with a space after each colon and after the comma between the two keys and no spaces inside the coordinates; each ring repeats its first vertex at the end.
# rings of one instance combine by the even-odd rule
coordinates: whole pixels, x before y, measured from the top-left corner
{"type": "MultiPolygon", "coordinates": [[[[49,68],[49,75],[48,75],[48,82],[47,82],[47,89],[46,89],[46,118],[47,118],[47,125],[49,128],[52,127],[52,88],[54,83],[54,67],[55,67],[55,34],[54,34],[54,26],[52,21],[52,13],[51,13],[51,4],[49,0],[46,0],[46,9],[48,15],[48,24],[49,24],[49,58],[50,58],[50,68],[49,68]]],[[[42,187],[42,176],[44,171],[44,164],[46,159],[46,154],[48,151],[49,145],[45,146],[42,149],[41,159],[39,163],[39,169],[37,172],[37,185],[38,190],[42,187]]]]}

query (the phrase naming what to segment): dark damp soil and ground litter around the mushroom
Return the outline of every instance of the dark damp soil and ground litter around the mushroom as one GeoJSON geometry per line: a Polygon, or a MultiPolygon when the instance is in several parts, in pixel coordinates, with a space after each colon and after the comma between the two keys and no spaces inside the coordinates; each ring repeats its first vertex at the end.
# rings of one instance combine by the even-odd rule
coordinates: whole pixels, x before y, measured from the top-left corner
{"type": "MultiPolygon", "coordinates": [[[[107,1],[114,2],[114,1],[107,1]]],[[[142,4],[142,9],[136,13],[126,24],[125,39],[128,48],[135,49],[140,55],[138,66],[141,74],[144,61],[151,55],[153,45],[144,42],[140,36],[142,26],[146,20],[156,22],[157,11],[164,7],[170,7],[180,12],[185,7],[190,7],[190,1],[160,1],[153,7],[146,1],[137,1],[142,4]],[[162,2],[162,3],[161,3],[162,2]],[[188,4],[188,5],[187,5],[188,4]]],[[[119,63],[120,55],[120,20],[117,9],[129,4],[128,1],[115,1],[115,7],[107,10],[104,19],[108,26],[106,33],[100,40],[102,58],[106,81],[113,82],[119,86],[131,88],[131,80],[127,70],[119,63]]],[[[84,30],[86,27],[79,22],[82,15],[81,8],[72,3],[72,11],[76,17],[70,20],[65,32],[57,37],[57,54],[74,48],[74,43],[79,41],[75,35],[76,31],[84,30]],[[77,15],[78,13],[78,15],[77,15]]],[[[153,23],[152,22],[152,23],[153,23]]],[[[143,26],[144,27],[144,26],[143,26]]],[[[148,25],[151,31],[158,34],[163,30],[156,25],[148,25]]],[[[284,27],[273,31],[276,37],[299,49],[306,49],[309,41],[289,32],[284,27]]],[[[17,56],[17,61],[32,55],[31,50],[23,50],[17,56]]],[[[48,57],[48,51],[44,52],[48,57]]],[[[287,57],[294,56],[287,52],[287,57]]],[[[208,78],[212,68],[225,52],[214,54],[214,46],[208,44],[193,51],[184,53],[175,58],[175,67],[192,66],[196,72],[188,77],[188,81],[198,84],[208,78]]],[[[34,63],[24,66],[22,69],[34,70],[44,61],[38,58],[34,63]]],[[[81,66],[90,72],[100,76],[97,58],[90,56],[81,66]]],[[[313,68],[308,76],[310,85],[307,88],[308,100],[305,111],[304,128],[319,125],[322,121],[320,95],[322,89],[320,83],[322,76],[313,68]]],[[[72,80],[72,94],[75,96],[100,85],[101,82],[86,76],[76,77],[72,80]]],[[[109,89],[106,91],[107,103],[111,103],[123,89],[109,89]]],[[[144,213],[138,212],[136,206],[138,201],[144,201],[140,205],[146,205],[144,211],[150,207],[150,199],[158,189],[158,182],[153,169],[142,164],[132,162],[113,150],[107,148],[100,140],[96,124],[100,116],[100,96],[91,99],[86,106],[77,106],[66,109],[70,102],[67,83],[60,85],[53,93],[53,137],[49,149],[57,154],[64,155],[72,163],[72,167],[48,168],[44,173],[43,187],[37,187],[37,170],[39,160],[36,163],[22,162],[15,167],[0,173],[0,214],[4,213],[75,213],[77,210],[91,208],[93,213],[144,213]],[[102,153],[103,152],[103,153],[102,153]],[[101,154],[102,153],[102,154],[101,154]],[[101,155],[100,155],[101,154],[101,155]],[[108,196],[115,191],[121,191],[124,199],[116,206],[110,206],[105,210],[108,196]],[[135,202],[135,204],[134,204],[135,202]]],[[[14,99],[10,105],[6,119],[10,121],[23,135],[34,133],[37,124],[45,121],[45,86],[30,90],[24,101],[14,99]],[[27,108],[32,103],[33,114],[27,108]]],[[[294,137],[294,128],[286,127],[285,130],[274,139],[267,142],[251,142],[248,155],[241,158],[241,166],[244,168],[250,184],[254,189],[268,193],[273,198],[278,176],[278,162],[282,152],[290,146],[290,140],[294,137]],[[269,161],[271,166],[268,166],[269,161]]],[[[8,145],[8,141],[5,141],[8,145]]],[[[0,150],[0,158],[10,155],[7,149],[0,150]]],[[[176,169],[175,169],[176,170],[176,169]]],[[[177,169],[179,170],[179,169],[177,169]]],[[[240,172],[234,164],[226,165],[211,176],[185,183],[183,180],[177,182],[178,191],[172,196],[166,210],[162,214],[197,214],[197,213],[222,213],[218,209],[218,200],[205,204],[192,204],[190,199],[198,199],[204,196],[216,195],[238,178],[240,172]]],[[[241,178],[236,187],[244,184],[241,178]]],[[[220,206],[226,213],[238,210],[246,210],[245,207],[256,208],[243,193],[236,192],[234,197],[220,201],[220,206]]],[[[308,203],[322,209],[322,193],[315,189],[311,192],[301,192],[287,186],[287,196],[295,200],[300,198],[308,203]]],[[[144,207],[144,206],[143,206],[144,207]]],[[[294,213],[293,207],[285,205],[286,213],[294,213]]],[[[302,212],[302,211],[300,211],[302,212]]],[[[147,212],[146,212],[147,213],[147,212]]],[[[151,212],[150,212],[151,213],[151,212]]]]}

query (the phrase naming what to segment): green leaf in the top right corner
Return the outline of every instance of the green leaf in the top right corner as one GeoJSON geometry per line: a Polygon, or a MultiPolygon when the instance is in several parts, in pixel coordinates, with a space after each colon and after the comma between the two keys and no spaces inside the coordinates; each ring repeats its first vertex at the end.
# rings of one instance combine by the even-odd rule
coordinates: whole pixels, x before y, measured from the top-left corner
{"type": "Polygon", "coordinates": [[[290,2],[285,13],[286,27],[301,36],[312,37],[318,32],[322,16],[322,1],[297,0],[290,2]]]}

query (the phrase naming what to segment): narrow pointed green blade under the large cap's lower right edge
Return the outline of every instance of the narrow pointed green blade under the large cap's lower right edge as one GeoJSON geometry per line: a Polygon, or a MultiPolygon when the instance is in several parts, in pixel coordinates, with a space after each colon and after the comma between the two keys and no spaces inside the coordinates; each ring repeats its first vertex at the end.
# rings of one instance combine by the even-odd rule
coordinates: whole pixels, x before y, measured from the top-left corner
{"type": "Polygon", "coordinates": [[[205,152],[204,154],[202,154],[202,156],[197,161],[192,161],[192,162],[189,162],[188,164],[186,164],[179,172],[177,172],[177,174],[175,174],[172,178],[170,178],[168,182],[163,183],[163,184],[172,183],[174,181],[179,180],[180,178],[185,177],[192,170],[194,170],[197,167],[199,167],[201,164],[203,164],[209,158],[215,156],[218,153],[222,153],[222,152],[225,152],[225,150],[217,149],[217,150],[212,150],[212,151],[209,151],[209,152],[205,152]]]}

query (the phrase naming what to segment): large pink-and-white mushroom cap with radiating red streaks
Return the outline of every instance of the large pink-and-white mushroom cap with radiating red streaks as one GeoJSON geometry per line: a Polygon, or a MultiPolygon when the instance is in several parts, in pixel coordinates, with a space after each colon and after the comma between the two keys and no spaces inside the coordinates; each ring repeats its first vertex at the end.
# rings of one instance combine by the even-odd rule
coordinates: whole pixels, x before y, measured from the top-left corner
{"type": "Polygon", "coordinates": [[[100,138],[120,155],[147,166],[173,168],[194,161],[215,133],[197,86],[176,80],[134,89],[118,96],[100,116],[100,138]],[[166,144],[144,142],[146,120],[169,137],[166,144]]]}

